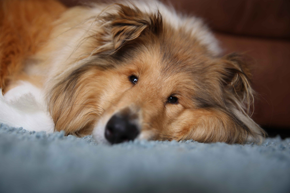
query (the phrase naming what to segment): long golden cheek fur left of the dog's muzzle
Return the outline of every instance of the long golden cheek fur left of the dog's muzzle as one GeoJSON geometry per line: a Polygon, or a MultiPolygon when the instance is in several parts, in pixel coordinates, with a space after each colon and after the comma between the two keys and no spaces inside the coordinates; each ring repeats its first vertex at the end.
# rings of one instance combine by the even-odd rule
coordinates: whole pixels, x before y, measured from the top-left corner
{"type": "Polygon", "coordinates": [[[120,88],[119,79],[116,74],[93,70],[72,80],[67,79],[57,84],[50,93],[49,108],[55,131],[90,134],[94,122],[113,100],[114,88],[120,88]]]}

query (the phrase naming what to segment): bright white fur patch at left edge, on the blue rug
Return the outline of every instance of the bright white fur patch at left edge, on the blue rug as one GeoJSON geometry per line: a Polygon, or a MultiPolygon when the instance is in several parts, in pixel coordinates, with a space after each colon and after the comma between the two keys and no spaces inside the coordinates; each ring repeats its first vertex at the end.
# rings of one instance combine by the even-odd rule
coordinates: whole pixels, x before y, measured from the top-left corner
{"type": "Polygon", "coordinates": [[[20,81],[4,96],[0,94],[0,122],[12,127],[23,127],[28,131],[54,130],[43,93],[26,81],[20,81]]]}

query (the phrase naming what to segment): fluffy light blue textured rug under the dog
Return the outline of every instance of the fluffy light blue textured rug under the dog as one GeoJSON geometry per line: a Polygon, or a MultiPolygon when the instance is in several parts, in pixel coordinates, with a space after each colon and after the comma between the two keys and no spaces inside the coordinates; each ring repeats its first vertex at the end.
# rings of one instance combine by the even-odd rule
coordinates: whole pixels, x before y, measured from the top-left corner
{"type": "Polygon", "coordinates": [[[290,192],[290,138],[96,144],[0,124],[0,192],[290,192]]]}

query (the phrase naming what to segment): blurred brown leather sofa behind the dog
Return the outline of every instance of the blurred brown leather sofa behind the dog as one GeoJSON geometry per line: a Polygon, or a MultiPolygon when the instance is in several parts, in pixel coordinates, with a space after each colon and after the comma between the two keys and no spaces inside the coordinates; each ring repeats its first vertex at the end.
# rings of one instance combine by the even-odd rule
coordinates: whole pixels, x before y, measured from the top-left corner
{"type": "MultiPolygon", "coordinates": [[[[67,6],[96,0],[60,0],[67,6]]],[[[98,1],[100,2],[100,1],[98,1]]],[[[182,13],[202,17],[224,54],[251,58],[256,90],[253,119],[269,134],[290,137],[290,1],[170,0],[182,13]]]]}

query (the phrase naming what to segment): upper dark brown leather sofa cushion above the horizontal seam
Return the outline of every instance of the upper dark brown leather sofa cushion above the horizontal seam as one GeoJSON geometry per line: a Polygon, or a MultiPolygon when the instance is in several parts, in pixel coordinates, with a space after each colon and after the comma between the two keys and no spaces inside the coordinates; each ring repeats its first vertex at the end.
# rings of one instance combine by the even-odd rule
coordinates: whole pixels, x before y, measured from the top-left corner
{"type": "Polygon", "coordinates": [[[290,39],[288,0],[171,0],[170,2],[179,11],[204,18],[206,23],[217,31],[290,39]]]}

